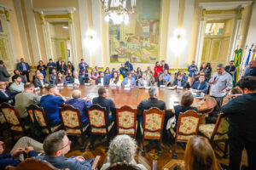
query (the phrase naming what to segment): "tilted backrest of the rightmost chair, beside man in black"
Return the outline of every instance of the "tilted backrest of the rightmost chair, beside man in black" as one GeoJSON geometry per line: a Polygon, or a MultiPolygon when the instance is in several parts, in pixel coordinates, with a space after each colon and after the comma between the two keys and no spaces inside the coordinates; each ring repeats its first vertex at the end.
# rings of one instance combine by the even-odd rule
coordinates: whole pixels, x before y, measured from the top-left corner
{"type": "Polygon", "coordinates": [[[227,116],[224,116],[224,114],[219,114],[211,139],[214,139],[215,135],[224,135],[229,133],[230,123],[226,118],[227,116]]]}

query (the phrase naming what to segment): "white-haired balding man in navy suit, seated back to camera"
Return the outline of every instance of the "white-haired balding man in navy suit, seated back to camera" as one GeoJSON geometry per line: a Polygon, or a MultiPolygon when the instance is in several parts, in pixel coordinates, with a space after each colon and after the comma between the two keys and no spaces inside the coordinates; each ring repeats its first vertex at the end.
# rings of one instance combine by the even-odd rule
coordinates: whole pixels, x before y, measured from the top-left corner
{"type": "Polygon", "coordinates": [[[91,101],[89,99],[81,98],[81,92],[79,90],[73,90],[71,94],[73,99],[67,99],[65,102],[66,105],[72,105],[74,108],[79,109],[80,113],[80,120],[82,123],[82,126],[85,127],[89,123],[89,119],[85,114],[86,107],[89,107],[91,105],[91,101]]]}

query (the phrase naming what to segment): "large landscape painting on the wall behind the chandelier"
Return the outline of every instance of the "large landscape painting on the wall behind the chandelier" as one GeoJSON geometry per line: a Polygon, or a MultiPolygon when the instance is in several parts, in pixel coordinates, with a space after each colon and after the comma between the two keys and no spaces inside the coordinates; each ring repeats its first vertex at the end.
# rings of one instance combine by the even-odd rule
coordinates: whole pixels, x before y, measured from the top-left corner
{"type": "Polygon", "coordinates": [[[155,63],[160,53],[161,0],[139,0],[128,25],[108,24],[110,63],[155,63]]]}

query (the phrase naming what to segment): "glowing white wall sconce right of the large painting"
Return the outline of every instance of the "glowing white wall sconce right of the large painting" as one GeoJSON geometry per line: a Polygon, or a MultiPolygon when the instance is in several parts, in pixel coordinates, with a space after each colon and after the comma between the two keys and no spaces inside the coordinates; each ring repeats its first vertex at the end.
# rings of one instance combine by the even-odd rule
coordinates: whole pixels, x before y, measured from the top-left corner
{"type": "Polygon", "coordinates": [[[186,47],[187,41],[184,36],[184,29],[176,29],[173,31],[173,37],[169,40],[168,46],[172,49],[174,54],[181,54],[186,47]]]}

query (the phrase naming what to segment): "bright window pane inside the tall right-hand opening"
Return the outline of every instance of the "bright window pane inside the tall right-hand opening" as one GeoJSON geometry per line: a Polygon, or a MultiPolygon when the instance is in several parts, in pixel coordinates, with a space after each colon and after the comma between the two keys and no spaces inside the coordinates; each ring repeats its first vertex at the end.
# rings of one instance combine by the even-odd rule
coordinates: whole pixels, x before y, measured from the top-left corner
{"type": "Polygon", "coordinates": [[[209,36],[223,35],[225,23],[207,23],[205,34],[209,36]]]}

